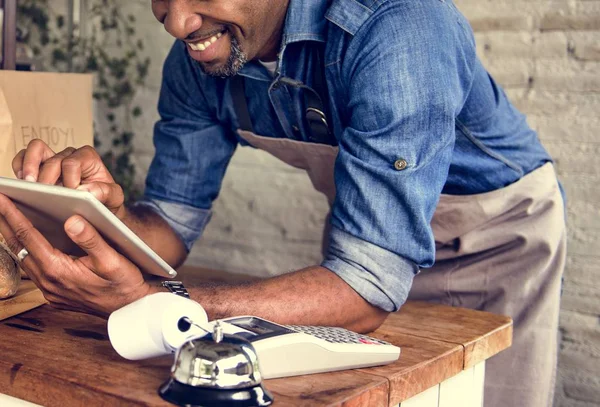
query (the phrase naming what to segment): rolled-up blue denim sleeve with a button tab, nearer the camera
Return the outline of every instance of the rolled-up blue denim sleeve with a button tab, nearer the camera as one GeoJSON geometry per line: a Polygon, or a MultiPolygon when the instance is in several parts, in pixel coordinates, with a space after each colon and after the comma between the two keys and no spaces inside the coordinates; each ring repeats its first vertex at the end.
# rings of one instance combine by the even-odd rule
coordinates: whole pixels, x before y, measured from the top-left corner
{"type": "Polygon", "coordinates": [[[414,275],[435,259],[430,222],[475,57],[449,10],[387,2],[339,68],[348,110],[323,266],[386,311],[406,301],[414,275]]]}

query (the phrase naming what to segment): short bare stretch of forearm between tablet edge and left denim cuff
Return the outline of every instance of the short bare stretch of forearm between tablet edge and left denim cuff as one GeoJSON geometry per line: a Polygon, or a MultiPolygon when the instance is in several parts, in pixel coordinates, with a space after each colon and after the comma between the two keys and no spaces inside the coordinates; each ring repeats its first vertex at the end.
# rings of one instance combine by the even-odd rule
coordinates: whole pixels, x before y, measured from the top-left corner
{"type": "Polygon", "coordinates": [[[187,251],[181,239],[149,207],[127,207],[122,221],[171,267],[177,268],[185,260],[187,251]]]}

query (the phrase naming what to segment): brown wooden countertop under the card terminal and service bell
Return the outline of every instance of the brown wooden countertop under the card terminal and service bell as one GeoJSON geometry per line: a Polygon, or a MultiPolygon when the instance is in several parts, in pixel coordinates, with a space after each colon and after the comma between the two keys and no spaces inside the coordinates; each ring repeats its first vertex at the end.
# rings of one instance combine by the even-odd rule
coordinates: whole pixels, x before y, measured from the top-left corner
{"type": "MultiPolygon", "coordinates": [[[[203,279],[219,280],[213,272],[203,279]]],[[[400,359],[387,366],[266,380],[273,405],[397,405],[510,346],[512,321],[409,302],[371,335],[400,346],[400,359]]],[[[157,389],[169,376],[172,357],[122,359],[101,318],[43,305],[0,322],[0,338],[0,393],[47,407],[170,405],[157,389]]]]}

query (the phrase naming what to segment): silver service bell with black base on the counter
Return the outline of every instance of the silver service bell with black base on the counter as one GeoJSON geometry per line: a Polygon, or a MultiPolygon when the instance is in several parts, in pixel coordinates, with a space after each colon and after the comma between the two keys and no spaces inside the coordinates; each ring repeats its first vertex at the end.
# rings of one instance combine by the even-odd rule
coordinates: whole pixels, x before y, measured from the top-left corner
{"type": "Polygon", "coordinates": [[[268,406],[271,394],[261,385],[258,357],[250,342],[214,331],[184,343],[175,356],[171,378],[160,396],[180,406],[268,406]]]}

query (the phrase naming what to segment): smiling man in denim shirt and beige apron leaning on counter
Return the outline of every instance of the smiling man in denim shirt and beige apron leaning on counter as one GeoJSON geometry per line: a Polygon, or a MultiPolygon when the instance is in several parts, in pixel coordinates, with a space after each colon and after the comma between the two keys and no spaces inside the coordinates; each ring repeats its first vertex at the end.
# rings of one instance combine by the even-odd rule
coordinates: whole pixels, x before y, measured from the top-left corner
{"type": "MultiPolygon", "coordinates": [[[[177,41],[144,199],[125,207],[91,148],[55,155],[32,142],[13,162],[20,178],[92,191],[178,266],[236,146],[266,150],[306,169],[329,198],[325,258],[243,287],[191,288],[211,319],[367,332],[412,284],[411,298],[514,319],[513,347],[488,363],[486,405],[551,403],[563,200],[550,157],[450,1],[154,0],[152,9],[177,41]]],[[[0,213],[0,232],[29,251],[24,268],[57,306],[108,314],[164,290],[81,217],[65,230],[88,256],[71,260],[1,196],[0,213]]]]}

